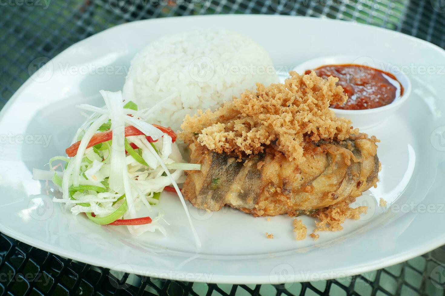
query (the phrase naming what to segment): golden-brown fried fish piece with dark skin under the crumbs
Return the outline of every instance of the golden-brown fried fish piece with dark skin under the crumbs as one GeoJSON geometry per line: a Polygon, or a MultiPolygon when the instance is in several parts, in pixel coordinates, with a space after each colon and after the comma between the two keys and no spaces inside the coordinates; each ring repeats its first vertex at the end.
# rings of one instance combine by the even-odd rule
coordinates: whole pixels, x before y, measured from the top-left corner
{"type": "Polygon", "coordinates": [[[194,142],[190,162],[201,164],[201,170],[188,172],[182,194],[209,211],[229,205],[255,217],[298,216],[352,202],[378,181],[377,146],[363,134],[309,145],[304,158],[297,165],[268,146],[240,162],[194,142]]]}

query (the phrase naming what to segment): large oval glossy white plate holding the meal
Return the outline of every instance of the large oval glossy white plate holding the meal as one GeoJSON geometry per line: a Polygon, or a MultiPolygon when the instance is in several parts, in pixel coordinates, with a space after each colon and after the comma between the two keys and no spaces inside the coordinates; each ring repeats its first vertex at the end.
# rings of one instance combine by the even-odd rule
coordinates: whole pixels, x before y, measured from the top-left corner
{"type": "MultiPolygon", "coordinates": [[[[1,111],[0,231],[89,264],[214,283],[328,279],[415,257],[445,243],[444,64],[444,51],[430,43],[343,21],[243,15],[116,26],[57,55],[1,111]],[[171,223],[169,236],[147,233],[134,238],[125,229],[94,225],[83,216],[65,213],[53,205],[44,182],[32,180],[32,168],[42,168],[50,157],[63,154],[84,120],[76,104],[99,104],[100,89],[121,89],[130,59],[150,41],[202,28],[250,36],[266,47],[281,71],[328,54],[373,56],[396,67],[408,66],[413,92],[406,104],[384,124],[364,130],[381,140],[382,171],[378,187],[357,200],[357,205],[370,206],[360,221],[347,221],[340,232],[320,233],[318,241],[295,241],[290,217],[267,221],[231,209],[202,213],[190,206],[202,240],[202,249],[196,250],[174,194],[161,196],[171,223]],[[51,137],[48,145],[44,137],[51,137]],[[392,209],[377,207],[380,197],[392,209]],[[265,232],[273,233],[274,239],[266,239],[265,232]]],[[[311,233],[313,219],[303,220],[311,233]]]]}

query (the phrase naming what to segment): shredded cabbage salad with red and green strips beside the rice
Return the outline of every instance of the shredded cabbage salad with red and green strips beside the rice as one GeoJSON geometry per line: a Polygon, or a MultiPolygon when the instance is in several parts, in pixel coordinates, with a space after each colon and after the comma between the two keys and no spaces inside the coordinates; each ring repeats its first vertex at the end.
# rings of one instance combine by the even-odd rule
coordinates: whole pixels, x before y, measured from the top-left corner
{"type": "Polygon", "coordinates": [[[51,158],[50,170],[34,169],[33,178],[52,180],[62,192],[53,202],[64,203],[74,215],[85,214],[98,225],[126,225],[134,235],[157,229],[166,234],[162,212],[138,217],[137,209],[143,206],[151,212],[163,190],[176,192],[200,247],[178,187],[184,170],[200,170],[200,165],[184,163],[173,130],[143,120],[150,109],[138,111],[135,103],[123,102],[120,91],[100,93],[106,107],[78,106],[93,114],[65,150],[68,157],[51,158]],[[54,169],[55,161],[65,162],[63,171],[54,169]]]}

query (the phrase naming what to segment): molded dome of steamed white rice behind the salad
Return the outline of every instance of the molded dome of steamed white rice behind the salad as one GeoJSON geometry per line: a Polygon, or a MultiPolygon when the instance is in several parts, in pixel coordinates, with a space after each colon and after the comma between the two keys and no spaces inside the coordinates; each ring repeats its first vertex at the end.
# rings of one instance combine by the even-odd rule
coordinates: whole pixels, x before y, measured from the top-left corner
{"type": "Polygon", "coordinates": [[[186,114],[214,111],[233,95],[254,91],[257,82],[278,82],[271,57],[258,43],[234,32],[189,32],[158,39],[138,53],[123,95],[139,108],[158,103],[145,118],[179,130],[186,114]]]}

